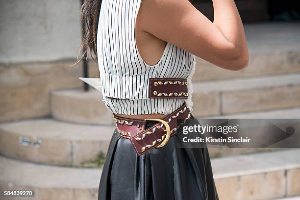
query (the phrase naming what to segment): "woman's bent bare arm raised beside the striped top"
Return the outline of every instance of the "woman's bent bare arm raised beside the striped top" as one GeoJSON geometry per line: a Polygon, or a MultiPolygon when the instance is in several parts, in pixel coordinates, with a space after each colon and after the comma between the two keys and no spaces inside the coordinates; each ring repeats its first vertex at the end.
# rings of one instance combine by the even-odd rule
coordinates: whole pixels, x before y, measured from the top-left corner
{"type": "Polygon", "coordinates": [[[228,70],[248,65],[243,24],[234,0],[213,0],[214,22],[188,0],[143,0],[143,29],[228,70]]]}

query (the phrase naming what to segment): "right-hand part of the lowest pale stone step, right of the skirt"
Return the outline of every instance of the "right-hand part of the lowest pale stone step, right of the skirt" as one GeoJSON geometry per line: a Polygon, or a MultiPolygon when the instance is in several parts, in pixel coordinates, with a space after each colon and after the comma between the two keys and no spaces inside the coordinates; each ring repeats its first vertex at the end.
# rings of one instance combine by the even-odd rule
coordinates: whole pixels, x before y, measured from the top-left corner
{"type": "Polygon", "coordinates": [[[220,200],[300,195],[300,149],[212,159],[220,200]]]}

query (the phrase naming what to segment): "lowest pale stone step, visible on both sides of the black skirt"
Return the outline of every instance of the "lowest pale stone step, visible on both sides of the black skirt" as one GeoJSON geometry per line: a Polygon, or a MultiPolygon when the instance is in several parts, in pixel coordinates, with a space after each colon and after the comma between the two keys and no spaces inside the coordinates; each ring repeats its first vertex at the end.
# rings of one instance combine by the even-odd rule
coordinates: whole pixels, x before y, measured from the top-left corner
{"type": "MultiPolygon", "coordinates": [[[[211,160],[220,200],[300,195],[300,150],[211,160]]],[[[0,189],[34,189],[34,200],[95,200],[100,169],[33,164],[0,157],[0,189]]]]}

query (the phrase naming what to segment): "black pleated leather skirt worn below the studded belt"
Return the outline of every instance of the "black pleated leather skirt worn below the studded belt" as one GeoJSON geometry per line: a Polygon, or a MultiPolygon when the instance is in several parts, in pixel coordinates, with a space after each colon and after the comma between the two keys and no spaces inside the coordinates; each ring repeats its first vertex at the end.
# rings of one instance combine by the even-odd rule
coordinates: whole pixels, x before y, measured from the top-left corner
{"type": "MultiPolygon", "coordinates": [[[[199,122],[192,116],[185,125],[199,122]]],[[[195,147],[183,143],[183,137],[202,136],[198,132],[185,135],[180,127],[164,147],[138,156],[130,140],[115,130],[98,200],[218,200],[206,144],[195,147]]]]}

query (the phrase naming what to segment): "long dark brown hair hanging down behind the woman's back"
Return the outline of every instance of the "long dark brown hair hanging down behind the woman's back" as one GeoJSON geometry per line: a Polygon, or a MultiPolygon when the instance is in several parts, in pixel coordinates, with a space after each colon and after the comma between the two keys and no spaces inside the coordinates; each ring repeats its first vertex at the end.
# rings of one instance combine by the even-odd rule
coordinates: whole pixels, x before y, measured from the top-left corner
{"type": "Polygon", "coordinates": [[[78,48],[81,52],[80,58],[77,54],[77,64],[90,55],[97,60],[97,30],[99,22],[99,13],[102,0],[84,0],[80,9],[80,19],[82,21],[83,39],[78,48]]]}

